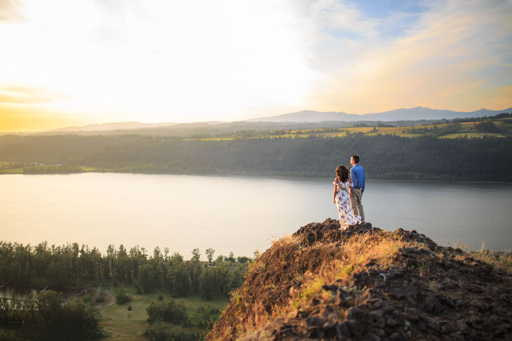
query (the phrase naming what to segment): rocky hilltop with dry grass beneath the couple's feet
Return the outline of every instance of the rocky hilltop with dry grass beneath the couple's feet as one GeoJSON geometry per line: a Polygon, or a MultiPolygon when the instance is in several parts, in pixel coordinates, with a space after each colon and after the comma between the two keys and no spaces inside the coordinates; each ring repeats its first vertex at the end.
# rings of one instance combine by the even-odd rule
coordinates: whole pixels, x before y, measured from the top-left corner
{"type": "Polygon", "coordinates": [[[510,254],[498,264],[414,230],[338,226],[275,242],[207,339],[509,339],[510,254]]]}

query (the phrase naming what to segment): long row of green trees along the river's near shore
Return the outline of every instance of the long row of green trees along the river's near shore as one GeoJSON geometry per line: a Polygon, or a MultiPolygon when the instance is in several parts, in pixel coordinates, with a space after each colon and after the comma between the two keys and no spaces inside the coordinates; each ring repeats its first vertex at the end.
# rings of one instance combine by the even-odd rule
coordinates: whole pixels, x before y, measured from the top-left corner
{"type": "Polygon", "coordinates": [[[158,289],[180,297],[194,293],[206,300],[243,283],[247,263],[233,263],[222,255],[205,263],[199,257],[198,249],[184,261],[180,254],[169,255],[167,248],[162,253],[159,247],[148,257],[139,246],[127,250],[110,245],[102,255],[97,248],[77,243],[49,247],[43,242],[32,247],[0,242],[0,282],[63,286],[110,280],[133,284],[140,292],[158,289]]]}

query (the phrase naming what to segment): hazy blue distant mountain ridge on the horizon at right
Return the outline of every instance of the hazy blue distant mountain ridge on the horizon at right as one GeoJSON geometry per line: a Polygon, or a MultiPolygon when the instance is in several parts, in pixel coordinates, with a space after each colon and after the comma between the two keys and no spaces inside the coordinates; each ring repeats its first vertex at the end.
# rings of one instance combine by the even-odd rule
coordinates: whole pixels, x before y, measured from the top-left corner
{"type": "Polygon", "coordinates": [[[432,119],[452,119],[464,117],[493,116],[500,113],[512,113],[512,108],[505,110],[480,109],[472,112],[439,110],[416,106],[416,108],[402,108],[373,114],[347,114],[345,112],[318,112],[303,110],[296,113],[283,114],[270,117],[250,118],[247,122],[321,122],[321,121],[415,121],[432,119]]]}

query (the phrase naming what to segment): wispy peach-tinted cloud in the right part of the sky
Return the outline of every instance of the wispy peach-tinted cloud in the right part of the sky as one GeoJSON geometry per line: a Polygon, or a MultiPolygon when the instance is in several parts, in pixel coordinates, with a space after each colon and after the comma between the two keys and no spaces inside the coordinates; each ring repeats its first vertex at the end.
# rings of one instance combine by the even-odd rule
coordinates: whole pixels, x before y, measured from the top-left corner
{"type": "Polygon", "coordinates": [[[377,32],[340,45],[322,59],[332,73],[317,104],[360,114],[398,103],[475,110],[488,101],[474,91],[501,91],[512,79],[511,10],[500,1],[431,2],[404,36],[376,41],[377,32]]]}

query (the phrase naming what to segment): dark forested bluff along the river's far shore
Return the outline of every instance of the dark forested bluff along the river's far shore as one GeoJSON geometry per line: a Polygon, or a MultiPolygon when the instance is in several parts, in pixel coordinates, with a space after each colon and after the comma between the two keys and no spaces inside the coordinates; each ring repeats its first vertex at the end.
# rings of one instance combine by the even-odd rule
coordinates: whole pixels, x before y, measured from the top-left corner
{"type": "MultiPolygon", "coordinates": [[[[456,131],[457,124],[438,130],[456,131]]],[[[36,137],[24,140],[24,137],[11,136],[9,140],[11,144],[17,140],[20,155],[33,155],[31,148],[36,144],[40,152],[37,158],[56,158],[58,153],[48,151],[47,147],[59,145],[62,151],[59,163],[120,173],[331,177],[337,164],[348,164],[350,155],[356,154],[361,157],[360,163],[368,179],[512,181],[510,137],[442,139],[356,133],[343,138],[310,136],[223,141],[154,136],[39,138],[41,140],[36,137]],[[76,141],[66,145],[65,142],[75,138],[91,147],[75,148],[76,141]],[[101,144],[96,139],[111,141],[96,148],[101,144]]],[[[8,155],[14,155],[13,152],[5,154],[6,146],[6,141],[0,138],[0,159],[9,160],[8,155]]]]}

